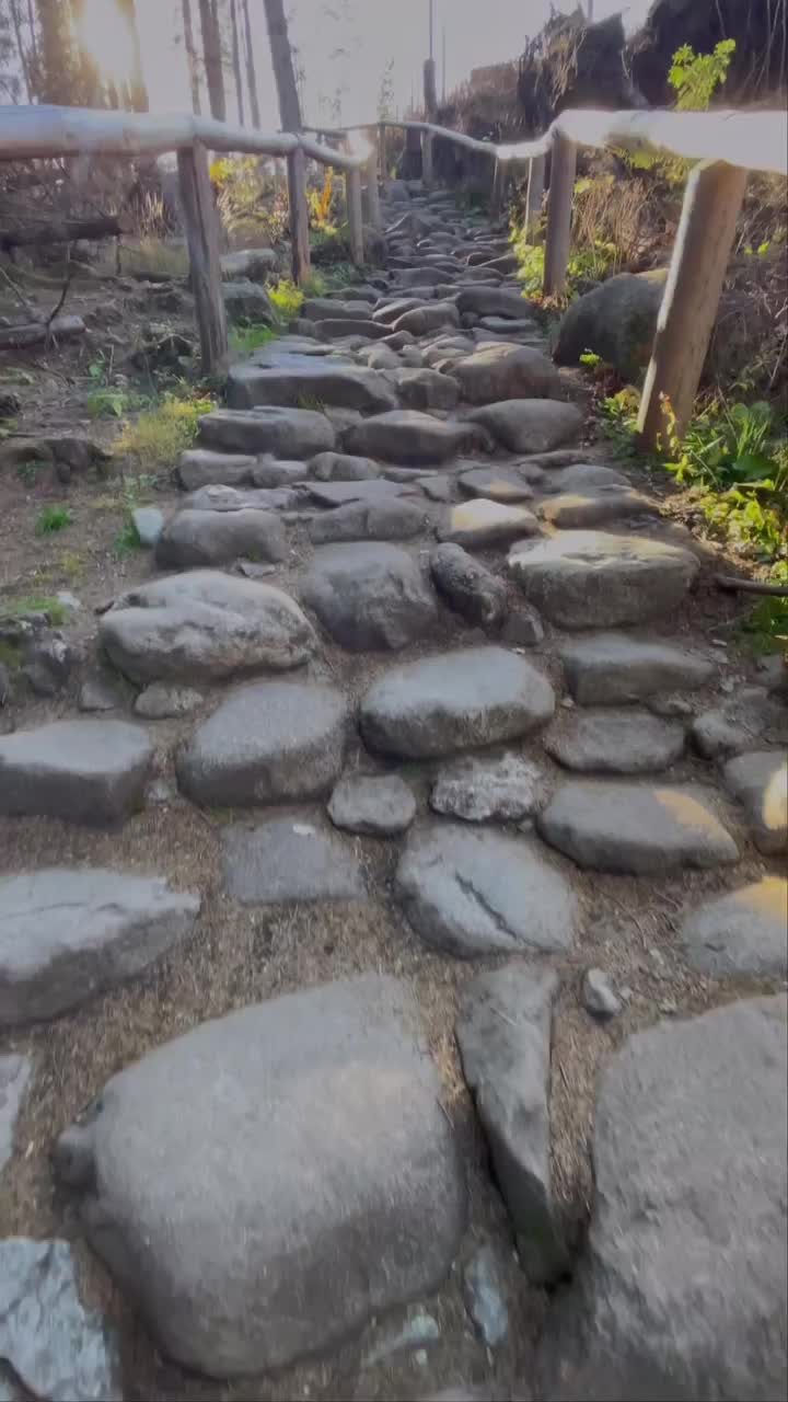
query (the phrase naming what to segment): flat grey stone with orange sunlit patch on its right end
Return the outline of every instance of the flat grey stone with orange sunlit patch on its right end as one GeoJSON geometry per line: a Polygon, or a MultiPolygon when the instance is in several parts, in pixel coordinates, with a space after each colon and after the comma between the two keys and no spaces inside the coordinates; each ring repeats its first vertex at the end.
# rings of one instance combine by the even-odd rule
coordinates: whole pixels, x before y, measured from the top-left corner
{"type": "Polygon", "coordinates": [[[575,780],[558,789],[537,826],[545,843],[595,871],[648,875],[739,859],[736,843],[694,787],[575,780]]]}

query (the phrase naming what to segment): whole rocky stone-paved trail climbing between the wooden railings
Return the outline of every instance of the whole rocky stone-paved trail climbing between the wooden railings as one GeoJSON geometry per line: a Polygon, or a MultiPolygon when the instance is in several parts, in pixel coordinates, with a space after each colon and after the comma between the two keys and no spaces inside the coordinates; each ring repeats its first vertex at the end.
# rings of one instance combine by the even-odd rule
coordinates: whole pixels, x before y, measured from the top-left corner
{"type": "Polygon", "coordinates": [[[778,1398],[784,673],[503,229],[386,210],[6,625],[0,1398],[778,1398]]]}

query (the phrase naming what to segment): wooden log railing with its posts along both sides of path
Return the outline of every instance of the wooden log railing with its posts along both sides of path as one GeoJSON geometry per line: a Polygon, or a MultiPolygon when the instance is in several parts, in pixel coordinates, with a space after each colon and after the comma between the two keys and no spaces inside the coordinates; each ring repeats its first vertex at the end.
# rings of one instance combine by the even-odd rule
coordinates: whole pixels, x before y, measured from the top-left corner
{"type": "Polygon", "coordinates": [[[788,123],[784,112],[576,109],[564,112],[536,140],[506,144],[480,142],[432,122],[379,122],[334,132],[327,132],[325,128],[308,129],[339,137],[344,149],[334,149],[306,133],[278,132],[265,136],[186,115],[7,107],[0,108],[0,160],[178,153],[202,365],[210,373],[226,359],[227,327],[208,150],[261,154],[287,161],[293,276],[296,282],[303,282],[310,272],[306,161],[315,160],[345,172],[351,254],[355,264],[362,264],[362,171],[366,172],[367,217],[373,226],[380,227],[379,149],[383,146],[386,128],[393,126],[421,133],[426,184],[432,181],[436,137],[495,161],[494,212],[503,206],[506,184],[513,171],[527,164],[529,217],[533,215],[541,203],[544,161],[550,154],[544,255],[547,296],[561,294],[566,286],[578,146],[637,147],[698,163],[687,181],[639,418],[639,429],[649,447],[660,443],[667,412],[674,416],[676,432],[681,433],[700,384],[747,172],[788,174],[788,123]],[[366,133],[356,150],[349,149],[351,132],[366,133]]]}

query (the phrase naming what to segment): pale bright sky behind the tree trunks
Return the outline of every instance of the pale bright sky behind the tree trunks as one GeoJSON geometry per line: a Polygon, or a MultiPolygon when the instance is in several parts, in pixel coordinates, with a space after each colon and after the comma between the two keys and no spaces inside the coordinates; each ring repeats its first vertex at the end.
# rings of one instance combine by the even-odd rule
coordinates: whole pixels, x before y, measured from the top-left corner
{"type": "MultiPolygon", "coordinates": [[[[100,50],[105,67],[112,55],[118,66],[114,0],[88,0],[88,7],[93,46],[100,50]]],[[[402,115],[411,94],[418,100],[422,64],[429,52],[429,0],[286,0],[285,8],[304,73],[304,122],[374,121],[381,80],[390,62],[394,108],[402,115]]],[[[555,0],[555,8],[572,11],[576,0],[555,0]]],[[[634,28],[648,8],[649,0],[595,0],[595,18],[623,11],[624,22],[634,28]]],[[[192,10],[196,15],[196,0],[192,10]]],[[[255,27],[261,121],[264,129],[276,130],[279,115],[262,0],[250,0],[250,10],[255,27]]],[[[137,0],[137,13],[151,109],[188,111],[186,64],[182,48],[175,45],[181,0],[137,0]]],[[[548,14],[547,0],[435,0],[439,95],[443,87],[444,29],[446,88],[451,91],[474,67],[517,59],[526,39],[538,32],[548,14]]],[[[123,76],[122,72],[119,76],[123,76]]],[[[227,115],[234,119],[231,74],[227,94],[227,115]]]]}

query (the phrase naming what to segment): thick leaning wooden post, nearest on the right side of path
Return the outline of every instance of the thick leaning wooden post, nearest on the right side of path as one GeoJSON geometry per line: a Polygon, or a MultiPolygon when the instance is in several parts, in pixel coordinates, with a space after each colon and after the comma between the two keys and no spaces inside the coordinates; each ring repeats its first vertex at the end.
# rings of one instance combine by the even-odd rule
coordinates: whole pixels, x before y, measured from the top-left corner
{"type": "Polygon", "coordinates": [[[695,167],[687,181],[638,418],[652,451],[666,447],[665,401],[679,437],[693,416],[746,184],[747,171],[722,163],[695,167]]]}

